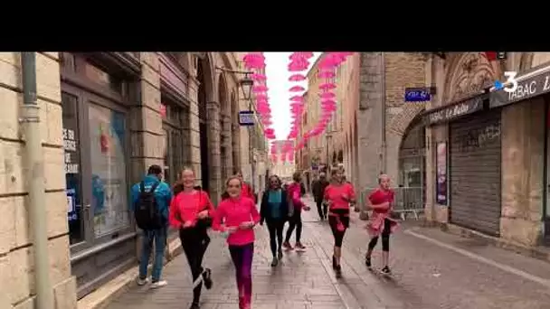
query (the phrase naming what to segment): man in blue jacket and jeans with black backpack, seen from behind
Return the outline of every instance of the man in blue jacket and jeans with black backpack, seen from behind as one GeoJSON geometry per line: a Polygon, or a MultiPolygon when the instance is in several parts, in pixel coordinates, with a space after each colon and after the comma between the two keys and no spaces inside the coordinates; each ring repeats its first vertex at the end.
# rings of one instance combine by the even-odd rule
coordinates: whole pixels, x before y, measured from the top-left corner
{"type": "Polygon", "coordinates": [[[155,261],[151,274],[151,288],[166,286],[160,280],[166,248],[168,210],[172,192],[168,184],[162,181],[162,168],[151,165],[145,178],[132,186],[131,211],[134,213],[137,227],[143,230],[141,259],[137,285],[147,284],[147,267],[153,243],[155,243],[155,261]]]}

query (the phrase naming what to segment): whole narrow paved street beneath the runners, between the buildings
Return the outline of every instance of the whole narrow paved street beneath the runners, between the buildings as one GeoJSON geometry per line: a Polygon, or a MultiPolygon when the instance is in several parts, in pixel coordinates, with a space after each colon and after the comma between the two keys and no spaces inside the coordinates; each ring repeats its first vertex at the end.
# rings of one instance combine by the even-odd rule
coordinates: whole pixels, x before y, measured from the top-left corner
{"type": "MultiPolygon", "coordinates": [[[[304,215],[306,252],[287,252],[275,268],[270,267],[267,231],[256,229],[252,308],[550,307],[547,263],[437,229],[424,229],[413,220],[406,221],[392,239],[394,275],[388,278],[365,268],[365,223],[354,213],[343,248],[343,276],[337,279],[329,258],[332,236],[327,223],[317,217],[313,207],[304,215]]],[[[204,290],[201,308],[237,308],[231,259],[224,240],[213,235],[205,265],[213,268],[215,281],[212,290],[204,290]]],[[[375,251],[373,261],[379,267],[379,251],[375,251]]],[[[168,286],[158,290],[134,286],[109,309],[187,308],[191,278],[185,256],[176,257],[164,274],[168,286]]]]}

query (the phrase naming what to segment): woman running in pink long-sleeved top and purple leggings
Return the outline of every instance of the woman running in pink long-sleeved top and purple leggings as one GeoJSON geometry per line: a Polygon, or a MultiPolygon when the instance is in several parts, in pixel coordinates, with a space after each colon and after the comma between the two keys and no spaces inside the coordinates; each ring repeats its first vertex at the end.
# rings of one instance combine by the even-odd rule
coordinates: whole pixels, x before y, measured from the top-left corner
{"type": "Polygon", "coordinates": [[[227,244],[237,276],[239,308],[250,309],[252,298],[252,256],[254,254],[254,226],[260,213],[250,198],[241,195],[242,181],[238,176],[225,183],[230,198],[218,205],[213,229],[228,233],[227,244]],[[225,224],[222,225],[222,221],[225,224]]]}

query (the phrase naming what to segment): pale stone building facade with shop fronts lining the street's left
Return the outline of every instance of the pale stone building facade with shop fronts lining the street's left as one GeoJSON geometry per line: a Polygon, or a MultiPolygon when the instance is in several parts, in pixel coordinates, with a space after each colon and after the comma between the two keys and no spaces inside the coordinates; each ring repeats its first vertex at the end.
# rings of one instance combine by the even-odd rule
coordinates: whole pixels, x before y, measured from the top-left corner
{"type": "MultiPolygon", "coordinates": [[[[56,308],[75,308],[136,267],[128,189],[147,166],[164,166],[171,183],[191,166],[217,202],[223,178],[251,161],[249,131],[238,125],[242,76],[228,71],[238,61],[232,52],[36,53],[56,308]]],[[[0,286],[2,308],[33,308],[34,299],[21,93],[20,53],[0,53],[0,278],[10,282],[0,286]]]]}

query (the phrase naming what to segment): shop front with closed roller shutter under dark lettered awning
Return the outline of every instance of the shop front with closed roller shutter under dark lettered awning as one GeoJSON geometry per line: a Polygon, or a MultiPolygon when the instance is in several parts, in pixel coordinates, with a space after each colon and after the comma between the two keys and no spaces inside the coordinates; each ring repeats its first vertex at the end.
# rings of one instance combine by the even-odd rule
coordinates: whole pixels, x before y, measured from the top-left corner
{"type": "Polygon", "coordinates": [[[445,209],[442,220],[498,236],[500,111],[487,105],[488,94],[481,94],[428,110],[426,117],[435,136],[435,204],[445,209]]]}

